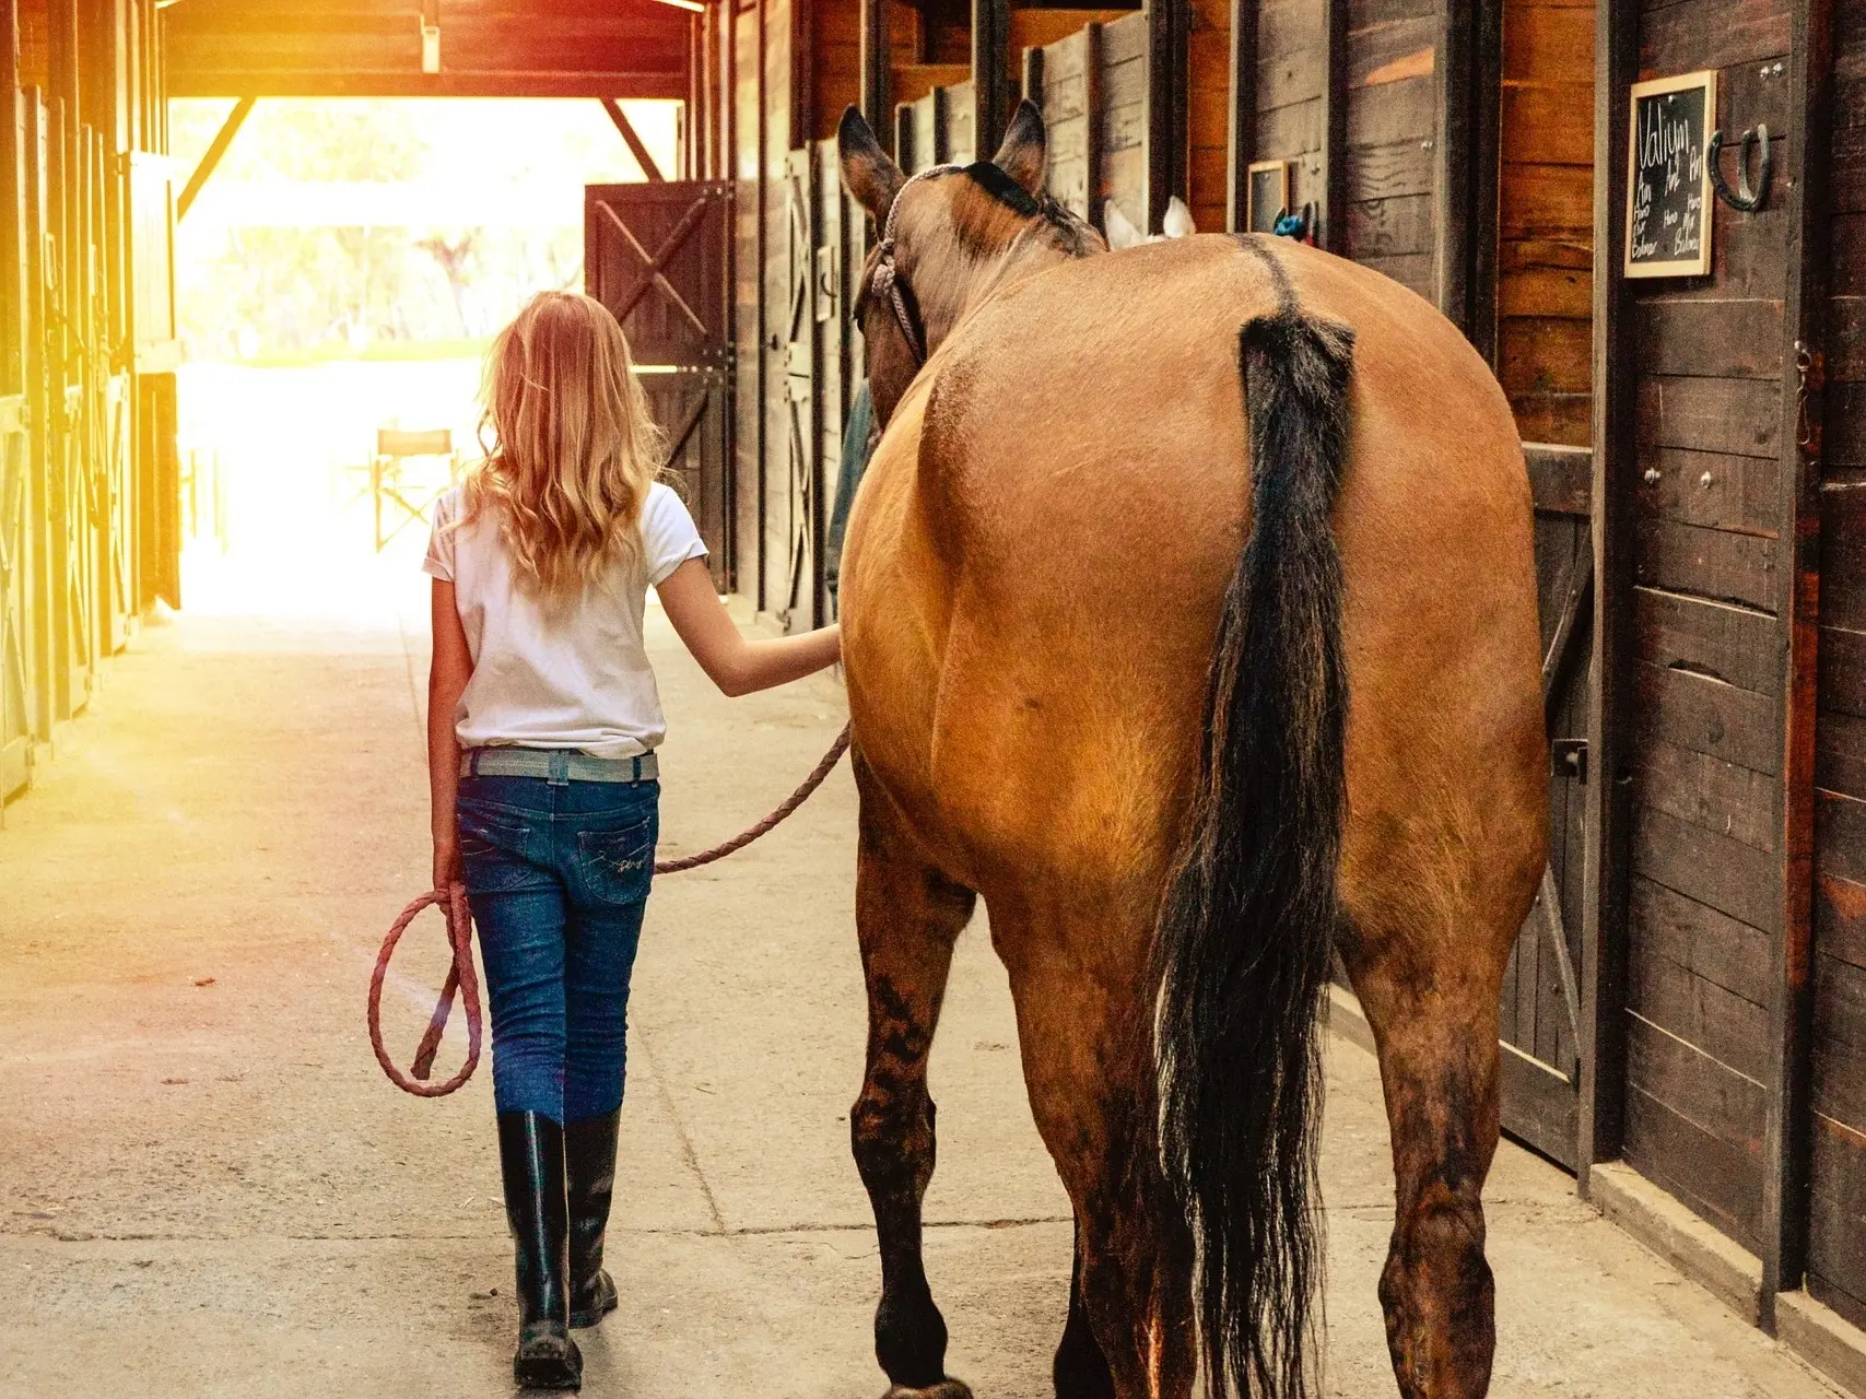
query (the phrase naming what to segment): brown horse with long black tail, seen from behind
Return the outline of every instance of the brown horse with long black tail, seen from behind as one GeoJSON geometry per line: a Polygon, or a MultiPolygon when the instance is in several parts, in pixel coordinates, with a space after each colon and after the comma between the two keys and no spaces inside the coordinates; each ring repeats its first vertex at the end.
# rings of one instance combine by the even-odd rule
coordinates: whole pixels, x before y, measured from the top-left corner
{"type": "Polygon", "coordinates": [[[1530,494],[1459,332],[1288,241],[1103,252],[993,162],[884,229],[877,416],[843,560],[892,1399],[955,1399],[920,1259],[926,1061],[978,895],[1075,1207],[1058,1395],[1314,1382],[1317,1020],[1338,949],[1381,1050],[1405,1395],[1480,1395],[1497,1005],[1547,845],[1530,494]],[[922,362],[924,360],[924,362],[922,362]]]}

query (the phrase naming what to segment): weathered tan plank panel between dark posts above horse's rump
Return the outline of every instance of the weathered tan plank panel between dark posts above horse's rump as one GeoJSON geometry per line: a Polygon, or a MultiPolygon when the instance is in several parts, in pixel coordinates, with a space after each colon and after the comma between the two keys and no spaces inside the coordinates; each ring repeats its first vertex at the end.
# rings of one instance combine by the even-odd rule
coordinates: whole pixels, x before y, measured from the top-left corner
{"type": "Polygon", "coordinates": [[[1442,0],[1347,2],[1347,166],[1338,252],[1427,300],[1442,0]]]}

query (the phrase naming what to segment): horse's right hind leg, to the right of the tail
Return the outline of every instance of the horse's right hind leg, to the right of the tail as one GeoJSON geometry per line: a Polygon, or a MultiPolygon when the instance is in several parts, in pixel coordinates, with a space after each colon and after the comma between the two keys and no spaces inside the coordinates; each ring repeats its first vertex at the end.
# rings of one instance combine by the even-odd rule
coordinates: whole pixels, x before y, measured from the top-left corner
{"type": "MultiPolygon", "coordinates": [[[[1495,979],[1416,946],[1358,949],[1355,990],[1381,1048],[1394,1151],[1394,1233],[1381,1272],[1386,1347],[1405,1399],[1476,1399],[1497,1347],[1483,1177],[1497,1153],[1495,979]],[[1422,976],[1422,957],[1442,981],[1422,976]],[[1437,983],[1437,985],[1435,985],[1437,983]]],[[[1500,976],[1500,968],[1498,968],[1500,976]]]]}

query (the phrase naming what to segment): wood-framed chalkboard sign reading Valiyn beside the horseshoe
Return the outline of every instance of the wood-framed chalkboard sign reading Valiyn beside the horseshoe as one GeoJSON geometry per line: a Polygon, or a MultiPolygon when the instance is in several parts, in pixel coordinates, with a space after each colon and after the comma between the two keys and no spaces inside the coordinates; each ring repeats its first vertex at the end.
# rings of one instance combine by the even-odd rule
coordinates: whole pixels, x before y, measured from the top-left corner
{"type": "Polygon", "coordinates": [[[1627,160],[1627,276],[1711,270],[1717,73],[1635,82],[1627,160]]]}

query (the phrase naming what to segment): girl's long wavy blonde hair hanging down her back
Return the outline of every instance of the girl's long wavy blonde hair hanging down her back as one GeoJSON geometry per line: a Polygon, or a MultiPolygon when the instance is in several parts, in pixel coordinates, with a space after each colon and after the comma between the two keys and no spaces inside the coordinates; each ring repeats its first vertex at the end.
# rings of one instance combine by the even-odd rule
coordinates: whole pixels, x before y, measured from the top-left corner
{"type": "Polygon", "coordinates": [[[461,524],[496,504],[521,588],[577,597],[634,556],[661,470],[629,341],[599,300],[543,291],[493,339],[483,397],[485,461],[466,478],[461,524]]]}

